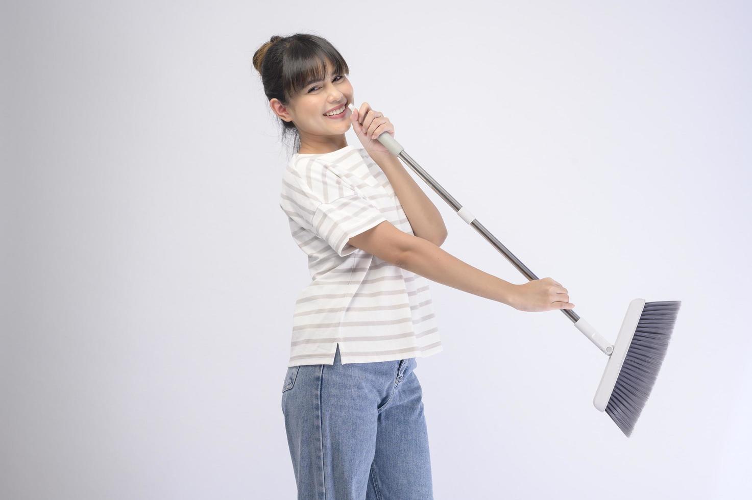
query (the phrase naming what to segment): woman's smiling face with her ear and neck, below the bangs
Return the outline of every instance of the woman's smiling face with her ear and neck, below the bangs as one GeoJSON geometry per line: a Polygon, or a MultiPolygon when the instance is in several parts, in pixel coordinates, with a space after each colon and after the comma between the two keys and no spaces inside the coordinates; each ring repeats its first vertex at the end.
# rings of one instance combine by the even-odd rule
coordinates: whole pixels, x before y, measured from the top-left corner
{"type": "Polygon", "coordinates": [[[335,74],[332,63],[326,61],[326,77],[309,81],[302,90],[290,98],[285,106],[278,99],[269,101],[271,109],[282,120],[295,123],[300,134],[299,153],[329,153],[347,145],[344,132],[350,128],[350,108],[353,86],[344,74],[335,74]],[[344,111],[327,117],[329,110],[344,111]]]}

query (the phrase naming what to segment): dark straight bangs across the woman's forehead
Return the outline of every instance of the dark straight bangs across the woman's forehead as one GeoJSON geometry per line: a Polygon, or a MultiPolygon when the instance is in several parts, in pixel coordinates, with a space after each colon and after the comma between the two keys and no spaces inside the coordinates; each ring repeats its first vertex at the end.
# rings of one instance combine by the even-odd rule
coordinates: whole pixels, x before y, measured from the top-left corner
{"type": "Polygon", "coordinates": [[[347,62],[331,45],[320,44],[317,41],[303,41],[290,47],[287,54],[282,86],[288,99],[298,95],[309,83],[322,81],[326,78],[326,65],[332,66],[332,76],[350,74],[347,62]]]}

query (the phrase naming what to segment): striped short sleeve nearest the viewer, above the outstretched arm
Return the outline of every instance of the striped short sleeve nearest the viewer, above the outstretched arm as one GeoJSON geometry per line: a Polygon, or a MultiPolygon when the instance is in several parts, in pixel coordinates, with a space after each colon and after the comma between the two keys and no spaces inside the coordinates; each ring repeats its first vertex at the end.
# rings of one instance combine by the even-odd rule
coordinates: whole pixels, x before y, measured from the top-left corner
{"type": "Polygon", "coordinates": [[[282,202],[287,202],[287,208],[283,210],[326,241],[338,256],[357,250],[348,243],[350,238],[387,220],[374,202],[326,163],[305,159],[294,167],[284,178],[282,202]]]}

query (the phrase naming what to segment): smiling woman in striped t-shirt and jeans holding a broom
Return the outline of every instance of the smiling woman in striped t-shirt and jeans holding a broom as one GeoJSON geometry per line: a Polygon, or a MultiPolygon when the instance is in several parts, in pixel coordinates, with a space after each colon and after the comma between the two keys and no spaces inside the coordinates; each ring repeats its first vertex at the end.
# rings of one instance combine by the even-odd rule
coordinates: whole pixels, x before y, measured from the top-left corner
{"type": "Polygon", "coordinates": [[[519,311],[573,308],[550,277],[522,285],[439,248],[441,215],[378,141],[392,123],[316,35],[272,36],[253,56],[283,136],[296,138],[280,208],[308,256],[282,411],[298,498],[433,498],[418,357],[441,352],[428,280],[519,311]],[[362,147],[347,144],[353,126],[362,147]]]}

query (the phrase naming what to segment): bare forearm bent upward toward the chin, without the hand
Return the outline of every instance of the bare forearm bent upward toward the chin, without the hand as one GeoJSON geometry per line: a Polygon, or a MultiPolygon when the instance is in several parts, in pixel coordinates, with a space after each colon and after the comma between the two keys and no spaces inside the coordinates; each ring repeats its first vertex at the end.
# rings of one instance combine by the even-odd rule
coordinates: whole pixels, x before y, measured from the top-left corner
{"type": "Polygon", "coordinates": [[[447,238],[447,226],[438,209],[408,174],[399,158],[391,153],[373,158],[374,162],[387,175],[394,193],[408,216],[413,233],[419,238],[441,244],[447,238]]]}

